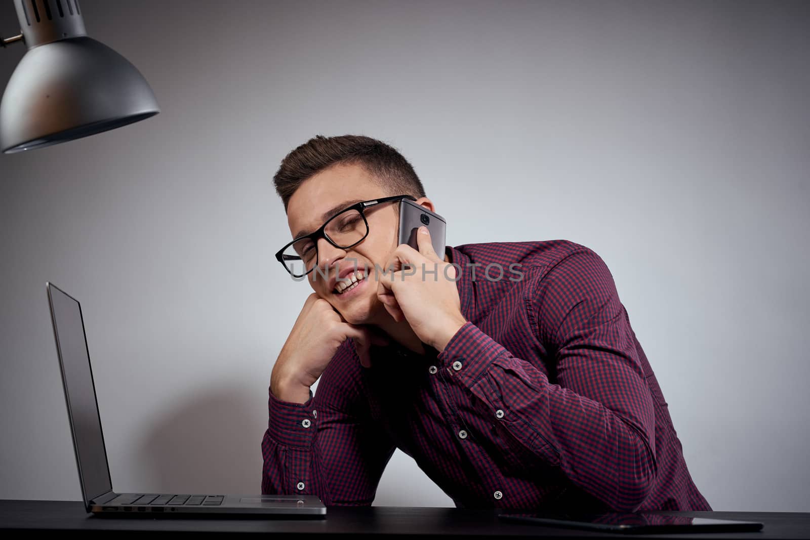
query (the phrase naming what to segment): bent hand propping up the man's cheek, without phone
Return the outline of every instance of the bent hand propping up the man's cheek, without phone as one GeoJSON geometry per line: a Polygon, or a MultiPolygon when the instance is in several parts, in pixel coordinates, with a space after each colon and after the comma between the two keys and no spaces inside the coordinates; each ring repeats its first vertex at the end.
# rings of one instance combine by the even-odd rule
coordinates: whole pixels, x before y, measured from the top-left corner
{"type": "Polygon", "coordinates": [[[317,293],[309,295],[271,373],[270,391],[284,402],[305,403],[309,387],[318,381],[338,348],[355,341],[360,364],[371,367],[369,348],[388,340],[367,325],[352,325],[317,293]]]}

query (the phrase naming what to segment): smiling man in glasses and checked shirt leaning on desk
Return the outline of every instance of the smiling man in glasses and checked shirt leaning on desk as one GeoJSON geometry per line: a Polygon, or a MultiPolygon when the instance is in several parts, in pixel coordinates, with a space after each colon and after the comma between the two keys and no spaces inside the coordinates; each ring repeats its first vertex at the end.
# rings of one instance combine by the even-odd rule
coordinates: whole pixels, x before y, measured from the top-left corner
{"type": "Polygon", "coordinates": [[[401,196],[436,209],[373,138],[312,138],[274,180],[277,257],[314,292],[271,373],[263,493],[370,505],[399,448],[460,508],[711,510],[595,252],[398,245],[401,196]]]}

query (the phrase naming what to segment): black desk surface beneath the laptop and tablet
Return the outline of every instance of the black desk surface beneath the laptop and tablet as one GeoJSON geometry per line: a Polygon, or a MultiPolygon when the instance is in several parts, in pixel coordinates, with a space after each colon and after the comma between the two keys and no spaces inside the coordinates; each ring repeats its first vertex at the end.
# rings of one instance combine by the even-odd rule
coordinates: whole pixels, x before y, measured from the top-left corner
{"type": "MultiPolygon", "coordinates": [[[[499,510],[463,510],[460,508],[340,507],[327,508],[320,519],[152,519],[149,517],[94,517],[84,512],[79,501],[0,500],[0,530],[32,532],[79,531],[110,534],[163,531],[199,534],[295,534],[295,538],[314,534],[362,535],[418,534],[425,538],[475,536],[542,536],[547,538],[810,538],[810,513],[804,512],[678,512],[691,517],[716,517],[740,521],[760,521],[765,526],[752,533],[712,534],[603,534],[586,530],[552,529],[498,521],[499,510]]],[[[674,513],[674,512],[671,512],[674,513]]]]}

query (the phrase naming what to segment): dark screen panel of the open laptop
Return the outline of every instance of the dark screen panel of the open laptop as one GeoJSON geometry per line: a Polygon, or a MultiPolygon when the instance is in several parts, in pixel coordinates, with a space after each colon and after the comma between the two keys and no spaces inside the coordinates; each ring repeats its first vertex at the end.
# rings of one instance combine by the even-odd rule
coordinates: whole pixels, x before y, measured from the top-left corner
{"type": "Polygon", "coordinates": [[[104,437],[101,435],[96,388],[87,354],[79,302],[49,283],[53,330],[56,334],[67,412],[73,432],[79,479],[85,504],[112,491],[104,437]]]}

